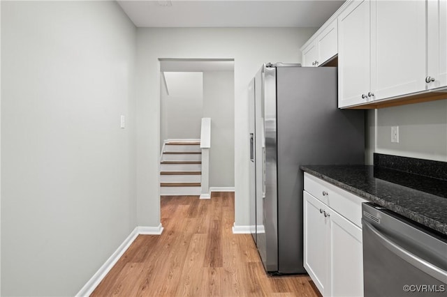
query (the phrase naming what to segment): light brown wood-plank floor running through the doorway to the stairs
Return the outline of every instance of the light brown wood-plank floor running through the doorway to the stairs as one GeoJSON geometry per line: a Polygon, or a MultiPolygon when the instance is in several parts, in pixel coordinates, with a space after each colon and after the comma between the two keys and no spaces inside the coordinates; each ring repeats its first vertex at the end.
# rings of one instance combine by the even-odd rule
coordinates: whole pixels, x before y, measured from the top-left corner
{"type": "Polygon", "coordinates": [[[308,276],[266,275],[233,222],[233,192],[161,197],[163,234],[138,236],[91,296],[320,296],[308,276]]]}

